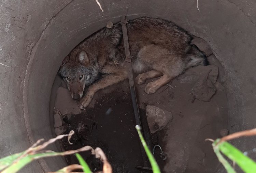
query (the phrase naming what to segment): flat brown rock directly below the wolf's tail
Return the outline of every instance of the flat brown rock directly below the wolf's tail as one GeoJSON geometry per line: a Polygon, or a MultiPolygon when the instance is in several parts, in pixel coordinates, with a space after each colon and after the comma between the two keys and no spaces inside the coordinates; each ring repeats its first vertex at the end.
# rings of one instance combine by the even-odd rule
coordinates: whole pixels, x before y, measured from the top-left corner
{"type": "Polygon", "coordinates": [[[207,65],[207,66],[196,66],[193,68],[189,68],[185,71],[184,74],[177,77],[177,80],[181,83],[195,83],[199,77],[203,74],[207,74],[209,70],[212,70],[208,76],[208,79],[212,83],[216,83],[218,77],[218,67],[215,65],[207,65]]]}

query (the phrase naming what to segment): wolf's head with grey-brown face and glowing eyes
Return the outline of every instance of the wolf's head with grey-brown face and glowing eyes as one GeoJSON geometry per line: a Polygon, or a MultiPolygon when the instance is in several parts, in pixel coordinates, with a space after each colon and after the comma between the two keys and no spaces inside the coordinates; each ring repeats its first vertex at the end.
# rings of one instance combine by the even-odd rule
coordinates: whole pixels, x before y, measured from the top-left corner
{"type": "Polygon", "coordinates": [[[66,81],[73,99],[83,96],[84,88],[97,80],[99,70],[90,64],[85,51],[80,52],[75,61],[66,57],[60,66],[59,74],[66,81]]]}

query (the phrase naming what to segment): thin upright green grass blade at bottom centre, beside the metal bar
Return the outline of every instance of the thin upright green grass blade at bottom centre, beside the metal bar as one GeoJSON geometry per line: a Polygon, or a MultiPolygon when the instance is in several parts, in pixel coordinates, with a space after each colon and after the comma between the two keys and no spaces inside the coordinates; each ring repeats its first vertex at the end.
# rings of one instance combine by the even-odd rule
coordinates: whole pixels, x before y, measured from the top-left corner
{"type": "Polygon", "coordinates": [[[141,131],[140,131],[140,126],[137,125],[137,126],[136,126],[136,129],[137,129],[137,131],[138,131],[138,134],[139,134],[141,143],[142,143],[142,145],[143,145],[143,147],[144,147],[144,150],[145,150],[145,152],[146,152],[146,154],[147,154],[147,157],[148,157],[148,159],[150,160],[150,164],[151,164],[153,173],[161,173],[161,172],[160,172],[160,169],[159,169],[159,167],[158,167],[158,164],[157,164],[157,162],[156,162],[156,160],[155,160],[155,158],[154,158],[154,156],[153,156],[153,154],[152,154],[152,153],[150,152],[150,150],[148,149],[147,144],[146,144],[146,142],[145,142],[145,140],[144,140],[144,138],[143,138],[143,136],[142,136],[142,133],[141,133],[141,131]]]}

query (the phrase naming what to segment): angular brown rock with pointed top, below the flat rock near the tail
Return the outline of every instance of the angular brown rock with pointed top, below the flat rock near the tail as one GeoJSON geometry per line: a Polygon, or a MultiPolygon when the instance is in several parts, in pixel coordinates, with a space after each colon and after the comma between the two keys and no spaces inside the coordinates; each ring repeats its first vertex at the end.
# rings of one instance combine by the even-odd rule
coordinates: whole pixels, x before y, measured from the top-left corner
{"type": "Polygon", "coordinates": [[[209,70],[206,76],[202,75],[191,89],[191,93],[194,96],[194,98],[200,101],[210,101],[210,99],[216,92],[215,86],[208,79],[210,72],[211,69],[209,70]]]}

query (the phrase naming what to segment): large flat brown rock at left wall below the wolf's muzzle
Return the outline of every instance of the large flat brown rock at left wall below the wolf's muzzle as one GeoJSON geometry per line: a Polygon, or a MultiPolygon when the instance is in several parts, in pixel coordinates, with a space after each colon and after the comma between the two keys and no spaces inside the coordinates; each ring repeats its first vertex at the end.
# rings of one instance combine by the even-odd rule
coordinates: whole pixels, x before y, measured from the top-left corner
{"type": "Polygon", "coordinates": [[[76,101],[71,97],[70,91],[63,87],[59,87],[57,90],[55,108],[58,109],[62,115],[80,114],[82,112],[77,106],[76,101]]]}

